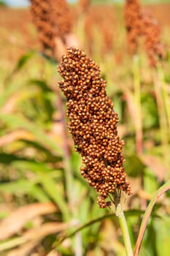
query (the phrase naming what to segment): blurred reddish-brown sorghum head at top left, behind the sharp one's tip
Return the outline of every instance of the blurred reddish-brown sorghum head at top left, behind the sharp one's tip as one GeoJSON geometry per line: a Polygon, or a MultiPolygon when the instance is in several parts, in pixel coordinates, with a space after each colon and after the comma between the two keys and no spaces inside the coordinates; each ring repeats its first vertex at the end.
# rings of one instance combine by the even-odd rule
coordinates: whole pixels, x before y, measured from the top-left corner
{"type": "Polygon", "coordinates": [[[42,51],[53,56],[55,37],[64,37],[72,29],[72,18],[65,0],[31,0],[31,14],[39,33],[42,51]]]}

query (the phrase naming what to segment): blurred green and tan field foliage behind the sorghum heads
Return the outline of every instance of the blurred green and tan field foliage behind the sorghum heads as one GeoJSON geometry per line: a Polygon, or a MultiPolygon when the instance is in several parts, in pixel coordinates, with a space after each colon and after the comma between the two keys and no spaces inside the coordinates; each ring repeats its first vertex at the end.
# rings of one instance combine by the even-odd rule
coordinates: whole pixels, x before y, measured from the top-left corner
{"type": "MultiPolygon", "coordinates": [[[[170,5],[152,5],[150,10],[167,50],[157,69],[149,66],[142,49],[137,59],[128,55],[122,7],[92,6],[82,16],[74,15],[74,33],[100,65],[120,117],[125,170],[133,189],[122,203],[133,246],[144,208],[170,177],[170,5]],[[135,105],[136,80],[141,113],[135,105]],[[143,148],[138,154],[141,114],[143,148]]],[[[96,192],[80,176],[81,159],[72,138],[67,134],[64,139],[58,63],[39,52],[29,10],[3,8],[0,24],[0,254],[125,255],[117,219],[109,209],[98,208],[96,192]]],[[[142,256],[169,256],[169,197],[164,194],[152,211],[142,256]]]]}

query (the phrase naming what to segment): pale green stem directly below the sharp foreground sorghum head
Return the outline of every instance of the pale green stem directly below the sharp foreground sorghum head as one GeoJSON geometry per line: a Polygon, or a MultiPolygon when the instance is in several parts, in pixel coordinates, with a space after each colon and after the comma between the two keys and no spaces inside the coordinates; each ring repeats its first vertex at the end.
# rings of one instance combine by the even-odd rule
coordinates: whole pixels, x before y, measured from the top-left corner
{"type": "Polygon", "coordinates": [[[129,233],[128,233],[128,225],[127,225],[127,222],[125,220],[125,215],[123,213],[123,209],[122,209],[122,206],[120,205],[120,203],[116,207],[115,214],[116,214],[117,218],[119,219],[120,228],[122,230],[123,241],[124,241],[124,244],[125,244],[126,256],[133,256],[133,250],[132,250],[132,247],[131,247],[131,240],[130,240],[130,236],[129,236],[129,233]]]}

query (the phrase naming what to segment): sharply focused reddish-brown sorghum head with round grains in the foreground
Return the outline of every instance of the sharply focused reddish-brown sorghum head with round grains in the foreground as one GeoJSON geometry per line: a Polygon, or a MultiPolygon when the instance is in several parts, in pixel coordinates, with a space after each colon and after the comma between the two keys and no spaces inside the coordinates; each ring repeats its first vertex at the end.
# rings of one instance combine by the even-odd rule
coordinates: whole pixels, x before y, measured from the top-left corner
{"type": "Polygon", "coordinates": [[[131,194],[123,167],[123,140],[117,135],[117,113],[107,96],[98,65],[79,48],[67,48],[58,67],[66,96],[69,131],[82,156],[81,174],[99,193],[100,208],[115,189],[131,194]]]}

